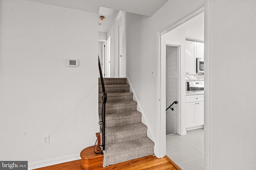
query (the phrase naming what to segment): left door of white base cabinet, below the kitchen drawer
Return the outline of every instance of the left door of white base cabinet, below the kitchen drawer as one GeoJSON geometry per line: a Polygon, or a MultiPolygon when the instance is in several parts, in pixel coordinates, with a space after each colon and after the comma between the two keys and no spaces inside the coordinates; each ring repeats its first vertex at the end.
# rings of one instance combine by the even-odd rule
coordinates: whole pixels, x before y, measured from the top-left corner
{"type": "Polygon", "coordinates": [[[196,126],[196,103],[186,103],[186,127],[196,126]]]}

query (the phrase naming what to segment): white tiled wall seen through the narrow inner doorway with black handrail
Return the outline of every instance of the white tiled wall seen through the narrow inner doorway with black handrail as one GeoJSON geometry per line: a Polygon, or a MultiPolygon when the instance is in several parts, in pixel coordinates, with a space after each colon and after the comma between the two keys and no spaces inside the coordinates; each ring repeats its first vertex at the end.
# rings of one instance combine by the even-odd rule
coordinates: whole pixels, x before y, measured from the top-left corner
{"type": "MultiPolygon", "coordinates": [[[[166,107],[177,101],[177,47],[166,46],[166,107]]],[[[177,105],[166,111],[166,135],[177,133],[177,105]]]]}

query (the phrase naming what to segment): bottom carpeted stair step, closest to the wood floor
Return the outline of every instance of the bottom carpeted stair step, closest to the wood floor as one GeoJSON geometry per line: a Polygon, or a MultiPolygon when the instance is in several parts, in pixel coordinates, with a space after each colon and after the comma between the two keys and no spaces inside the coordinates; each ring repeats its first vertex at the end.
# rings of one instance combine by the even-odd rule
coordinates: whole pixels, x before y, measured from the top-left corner
{"type": "Polygon", "coordinates": [[[103,152],[103,167],[105,167],[153,154],[154,142],[148,137],[141,137],[119,143],[110,143],[106,144],[106,150],[103,152]]]}

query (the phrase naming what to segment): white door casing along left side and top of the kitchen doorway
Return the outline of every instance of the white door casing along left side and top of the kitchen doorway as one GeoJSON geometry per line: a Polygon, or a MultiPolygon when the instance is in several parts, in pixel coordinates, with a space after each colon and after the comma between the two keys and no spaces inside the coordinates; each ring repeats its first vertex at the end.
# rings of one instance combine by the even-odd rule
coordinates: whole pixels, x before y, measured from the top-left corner
{"type": "MultiPolygon", "coordinates": [[[[163,104],[164,98],[166,96],[163,95],[163,89],[162,89],[162,84],[165,83],[165,79],[166,77],[163,76],[163,42],[164,42],[164,37],[163,35],[169,31],[171,31],[172,29],[180,26],[181,24],[185,23],[186,21],[190,20],[191,18],[194,18],[195,16],[201,14],[202,12],[204,12],[204,3],[201,4],[200,6],[198,6],[197,8],[195,8],[194,10],[192,10],[191,12],[189,12],[188,14],[186,14],[185,16],[183,16],[182,18],[180,18],[179,20],[175,21],[174,23],[171,23],[168,27],[165,27],[164,29],[161,29],[159,31],[157,31],[156,35],[156,39],[157,39],[157,55],[156,55],[156,61],[158,61],[158,78],[156,78],[156,84],[157,84],[157,89],[156,89],[156,93],[157,96],[159,96],[159,100],[160,102],[157,104],[157,117],[156,117],[156,130],[158,131],[158,129],[160,130],[160,135],[158,135],[156,137],[157,140],[159,140],[159,147],[157,148],[157,153],[159,153],[160,157],[163,157],[164,154],[166,153],[166,134],[163,133],[164,128],[163,127],[166,123],[164,123],[166,116],[163,114],[165,113],[165,104],[163,104]],[[159,138],[158,138],[159,137],[159,138]],[[158,151],[158,149],[160,149],[158,151]]],[[[182,72],[181,72],[182,74],[182,72]]],[[[185,74],[184,74],[185,75],[185,74]]],[[[182,76],[182,75],[181,75],[182,76]]],[[[185,133],[185,132],[184,132],[185,133]]]]}

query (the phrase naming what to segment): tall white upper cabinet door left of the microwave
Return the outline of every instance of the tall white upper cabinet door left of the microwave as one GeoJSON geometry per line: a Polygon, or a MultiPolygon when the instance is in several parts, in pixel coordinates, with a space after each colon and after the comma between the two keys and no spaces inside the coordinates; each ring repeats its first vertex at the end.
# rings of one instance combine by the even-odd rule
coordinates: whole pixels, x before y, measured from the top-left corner
{"type": "Polygon", "coordinates": [[[196,74],[196,42],[186,41],[186,74],[196,74]]]}

